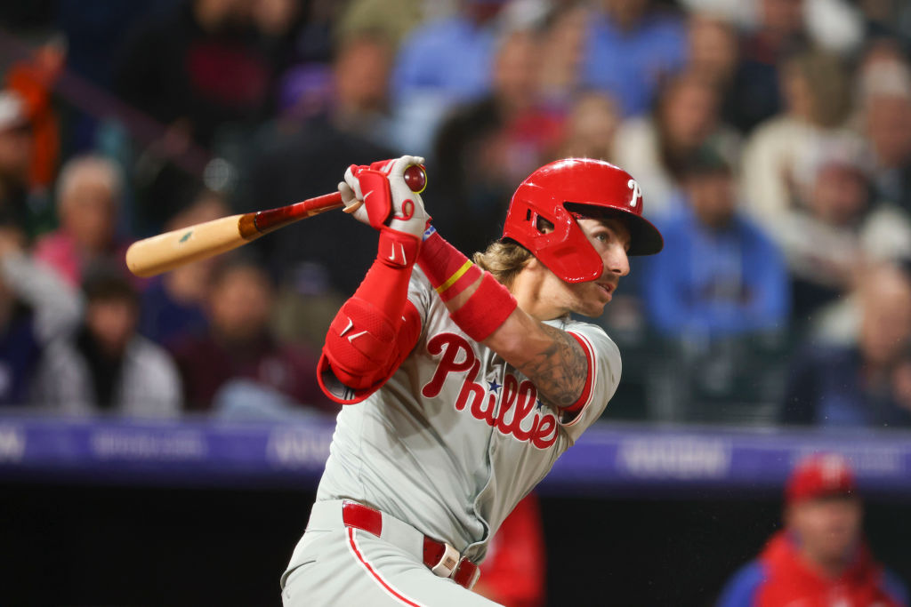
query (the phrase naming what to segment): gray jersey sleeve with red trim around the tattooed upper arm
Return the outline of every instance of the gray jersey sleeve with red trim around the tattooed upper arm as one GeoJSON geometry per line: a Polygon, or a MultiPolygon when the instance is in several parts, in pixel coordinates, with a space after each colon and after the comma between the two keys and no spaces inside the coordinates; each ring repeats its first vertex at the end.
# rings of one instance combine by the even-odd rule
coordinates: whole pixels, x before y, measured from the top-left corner
{"type": "Polygon", "coordinates": [[[578,341],[589,362],[585,387],[579,400],[568,407],[560,424],[572,440],[601,416],[620,381],[620,351],[604,329],[583,322],[570,322],[566,331],[578,341]]]}

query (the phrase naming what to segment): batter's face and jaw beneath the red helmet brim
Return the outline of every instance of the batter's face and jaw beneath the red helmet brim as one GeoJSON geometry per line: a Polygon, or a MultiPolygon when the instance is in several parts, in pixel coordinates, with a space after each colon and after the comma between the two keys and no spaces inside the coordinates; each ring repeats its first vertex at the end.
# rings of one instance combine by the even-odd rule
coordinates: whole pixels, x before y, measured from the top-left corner
{"type": "Polygon", "coordinates": [[[620,278],[630,273],[630,229],[619,219],[578,219],[578,226],[598,251],[603,271],[595,280],[564,283],[569,296],[567,308],[583,316],[599,317],[620,278]]]}

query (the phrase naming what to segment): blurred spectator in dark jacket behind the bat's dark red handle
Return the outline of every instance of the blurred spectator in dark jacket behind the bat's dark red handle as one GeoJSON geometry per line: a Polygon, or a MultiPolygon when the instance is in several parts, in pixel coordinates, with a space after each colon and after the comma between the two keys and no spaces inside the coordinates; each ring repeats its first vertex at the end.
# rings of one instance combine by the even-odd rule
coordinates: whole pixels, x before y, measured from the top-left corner
{"type": "MultiPolygon", "coordinates": [[[[391,147],[371,137],[384,128],[376,121],[383,120],[389,73],[364,76],[357,66],[363,62],[388,70],[388,52],[388,43],[373,31],[339,42],[331,74],[338,84],[327,89],[333,96],[308,101],[309,93],[299,91],[296,101],[293,96],[288,99],[288,114],[257,133],[235,196],[239,210],[282,207],[332,192],[338,185],[335,168],[396,156],[391,147]]],[[[315,222],[302,221],[261,238],[254,247],[285,284],[297,285],[308,297],[334,300],[350,295],[360,284],[375,253],[375,238],[373,230],[351,225],[343,213],[325,213],[315,222]],[[348,237],[345,247],[337,246],[337,234],[348,237]]],[[[334,312],[326,326],[333,316],[334,312]]]]}

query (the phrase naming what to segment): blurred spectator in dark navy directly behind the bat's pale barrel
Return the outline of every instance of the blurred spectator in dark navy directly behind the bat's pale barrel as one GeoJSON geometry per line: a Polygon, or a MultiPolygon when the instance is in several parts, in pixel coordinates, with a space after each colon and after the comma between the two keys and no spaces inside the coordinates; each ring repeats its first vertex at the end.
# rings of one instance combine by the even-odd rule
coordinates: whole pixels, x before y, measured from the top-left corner
{"type": "MultiPolygon", "coordinates": [[[[228,215],[227,203],[215,192],[203,191],[166,229],[193,226],[228,215]]],[[[165,347],[184,335],[197,335],[208,327],[205,300],[214,258],[174,268],[154,278],[140,296],[139,332],[165,347]]]]}

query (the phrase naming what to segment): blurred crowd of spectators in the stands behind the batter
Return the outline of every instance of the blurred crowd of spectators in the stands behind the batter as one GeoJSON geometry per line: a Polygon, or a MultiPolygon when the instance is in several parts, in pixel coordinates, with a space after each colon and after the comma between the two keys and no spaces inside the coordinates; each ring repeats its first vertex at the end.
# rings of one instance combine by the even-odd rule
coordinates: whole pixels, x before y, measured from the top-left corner
{"type": "Polygon", "coordinates": [[[663,253],[604,318],[614,419],[911,425],[902,0],[44,0],[0,7],[0,403],[332,411],[375,253],[341,213],[159,278],[128,244],[426,158],[466,253],[558,157],[640,183],[663,253]]]}

